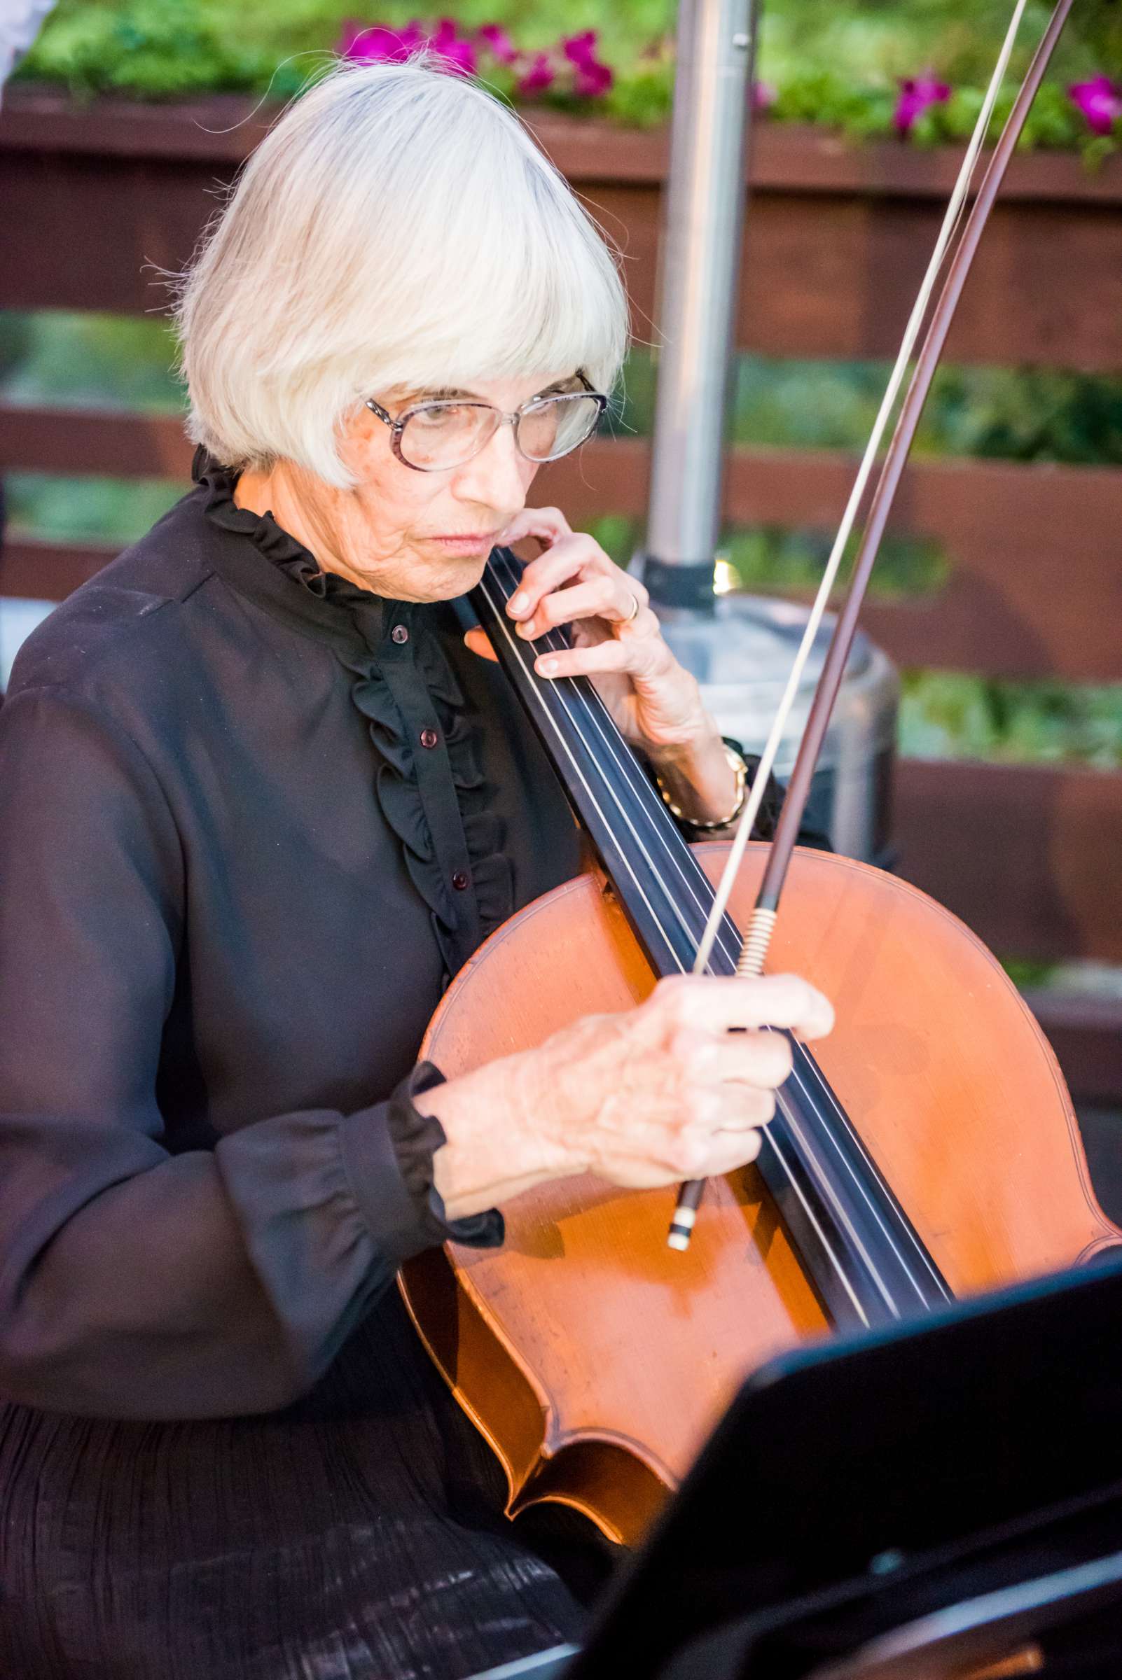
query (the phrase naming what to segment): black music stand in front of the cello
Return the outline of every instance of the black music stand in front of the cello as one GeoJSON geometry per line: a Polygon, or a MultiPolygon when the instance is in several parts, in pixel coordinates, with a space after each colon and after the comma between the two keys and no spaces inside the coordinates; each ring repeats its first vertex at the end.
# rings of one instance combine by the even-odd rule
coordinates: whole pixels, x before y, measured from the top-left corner
{"type": "Polygon", "coordinates": [[[1102,1620],[1115,1596],[1095,1635],[1104,1665],[1087,1673],[1119,1675],[1122,1572],[1115,1588],[1105,1561],[1120,1551],[1122,1258],[1109,1258],[768,1364],[621,1567],[583,1648],[526,1673],[840,1673],[863,1646],[883,1656],[889,1630],[1025,1583],[1060,1583],[1035,1611],[1031,1593],[1023,1601],[1036,1628],[1070,1625],[1063,1583],[1102,1564],[1088,1609],[1102,1620]]]}

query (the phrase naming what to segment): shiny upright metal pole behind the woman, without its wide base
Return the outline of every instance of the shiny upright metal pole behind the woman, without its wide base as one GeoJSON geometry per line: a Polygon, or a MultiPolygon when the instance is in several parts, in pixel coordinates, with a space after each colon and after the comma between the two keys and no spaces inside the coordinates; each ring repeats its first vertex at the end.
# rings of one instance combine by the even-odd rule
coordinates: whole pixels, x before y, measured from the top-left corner
{"type": "Polygon", "coordinates": [[[682,0],[643,583],[712,612],[759,0],[682,0]]]}

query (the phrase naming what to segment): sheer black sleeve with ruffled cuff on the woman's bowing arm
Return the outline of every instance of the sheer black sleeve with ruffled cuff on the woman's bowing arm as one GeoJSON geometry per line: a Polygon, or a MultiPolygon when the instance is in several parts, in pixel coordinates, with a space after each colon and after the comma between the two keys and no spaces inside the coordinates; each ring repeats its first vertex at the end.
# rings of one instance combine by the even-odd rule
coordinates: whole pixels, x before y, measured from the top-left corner
{"type": "Polygon", "coordinates": [[[314,1383],[401,1260],[452,1230],[420,1070],[359,1112],[171,1154],[156,1102],[185,865],[134,743],[32,689],[0,711],[0,1389],[139,1418],[265,1411],[314,1383]]]}

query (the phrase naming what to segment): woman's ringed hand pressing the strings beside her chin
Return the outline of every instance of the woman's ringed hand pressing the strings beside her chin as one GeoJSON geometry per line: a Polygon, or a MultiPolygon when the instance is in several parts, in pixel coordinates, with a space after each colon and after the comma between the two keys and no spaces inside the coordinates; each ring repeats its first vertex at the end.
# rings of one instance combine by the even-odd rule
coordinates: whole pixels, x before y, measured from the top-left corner
{"type": "MultiPolygon", "coordinates": [[[[569,625],[571,648],[543,648],[541,677],[590,677],[616,726],[653,756],[692,748],[716,736],[697,680],[662,638],[647,590],[605,554],[600,543],[573,531],[558,507],[526,507],[502,533],[502,544],[536,538],[544,553],[522,571],[507,603],[517,635],[537,642],[569,625]]],[[[469,647],[490,654],[484,630],[469,647]]]]}

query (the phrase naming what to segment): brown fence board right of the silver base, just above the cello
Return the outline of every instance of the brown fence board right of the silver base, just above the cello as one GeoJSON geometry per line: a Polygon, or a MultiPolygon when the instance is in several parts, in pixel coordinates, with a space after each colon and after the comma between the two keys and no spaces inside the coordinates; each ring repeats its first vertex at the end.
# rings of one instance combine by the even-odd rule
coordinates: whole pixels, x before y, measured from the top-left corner
{"type": "Polygon", "coordinates": [[[894,833],[905,880],[999,956],[1122,963],[1122,774],[902,759],[894,833]]]}

